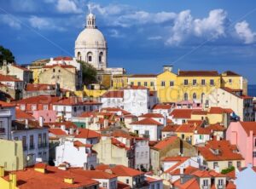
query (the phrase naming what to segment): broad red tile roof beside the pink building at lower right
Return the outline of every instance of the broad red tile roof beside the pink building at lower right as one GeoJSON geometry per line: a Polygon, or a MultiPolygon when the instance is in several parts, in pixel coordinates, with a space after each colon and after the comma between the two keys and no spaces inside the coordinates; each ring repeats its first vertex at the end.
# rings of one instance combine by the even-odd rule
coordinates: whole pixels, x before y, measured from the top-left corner
{"type": "Polygon", "coordinates": [[[237,147],[228,140],[209,140],[206,146],[198,147],[198,151],[207,161],[243,160],[241,154],[234,152],[235,150],[237,147]],[[212,150],[218,150],[218,154],[214,154],[212,150]]]}

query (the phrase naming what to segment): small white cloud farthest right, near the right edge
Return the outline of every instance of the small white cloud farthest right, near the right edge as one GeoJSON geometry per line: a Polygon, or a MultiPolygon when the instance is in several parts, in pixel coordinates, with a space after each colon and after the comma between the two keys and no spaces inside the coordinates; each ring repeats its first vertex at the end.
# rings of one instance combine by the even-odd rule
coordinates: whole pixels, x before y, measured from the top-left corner
{"type": "Polygon", "coordinates": [[[253,32],[250,29],[250,26],[247,23],[247,21],[244,20],[236,23],[235,29],[236,34],[238,35],[238,37],[241,38],[241,40],[244,41],[244,43],[250,44],[256,42],[256,32],[253,32]]]}

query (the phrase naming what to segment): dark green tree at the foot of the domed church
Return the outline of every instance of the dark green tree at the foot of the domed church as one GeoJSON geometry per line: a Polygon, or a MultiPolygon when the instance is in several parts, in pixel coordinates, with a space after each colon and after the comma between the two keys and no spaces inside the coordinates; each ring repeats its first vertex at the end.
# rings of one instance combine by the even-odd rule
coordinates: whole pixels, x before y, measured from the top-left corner
{"type": "Polygon", "coordinates": [[[89,63],[79,60],[79,63],[82,66],[82,76],[84,85],[89,85],[91,83],[96,83],[97,71],[94,66],[91,66],[89,63]]]}

